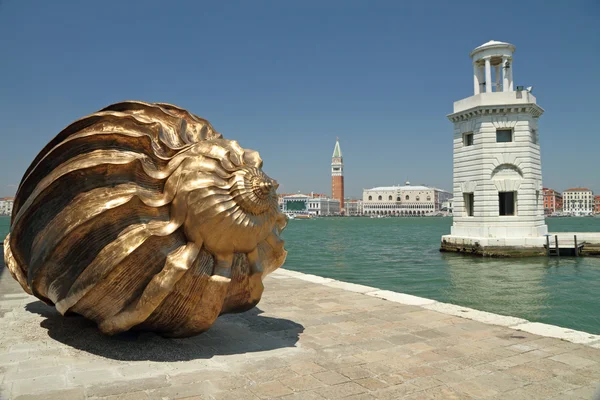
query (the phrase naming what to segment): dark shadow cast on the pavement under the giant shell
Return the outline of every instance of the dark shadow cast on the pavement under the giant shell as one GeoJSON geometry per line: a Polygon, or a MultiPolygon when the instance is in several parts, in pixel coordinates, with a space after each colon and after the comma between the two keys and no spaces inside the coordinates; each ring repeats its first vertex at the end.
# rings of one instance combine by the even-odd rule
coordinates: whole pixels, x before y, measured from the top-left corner
{"type": "Polygon", "coordinates": [[[73,348],[121,361],[188,361],[215,355],[243,354],[294,347],[304,327],[287,319],[261,316],[259,308],[222,315],[205,333],[167,339],[148,332],[103,335],[96,324],[79,315],[63,317],[41,301],[26,310],[45,318],[48,335],[73,348]]]}

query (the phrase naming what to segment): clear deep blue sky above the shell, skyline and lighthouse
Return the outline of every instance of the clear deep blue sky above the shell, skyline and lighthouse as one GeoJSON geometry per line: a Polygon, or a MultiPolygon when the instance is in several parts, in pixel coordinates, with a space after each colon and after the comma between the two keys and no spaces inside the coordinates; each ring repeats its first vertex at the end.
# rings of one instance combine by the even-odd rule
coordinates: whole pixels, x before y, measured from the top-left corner
{"type": "Polygon", "coordinates": [[[0,0],[0,196],[73,120],[125,99],[177,104],[260,151],[280,190],[452,188],[469,52],[517,46],[544,185],[600,193],[600,2],[0,0]]]}

